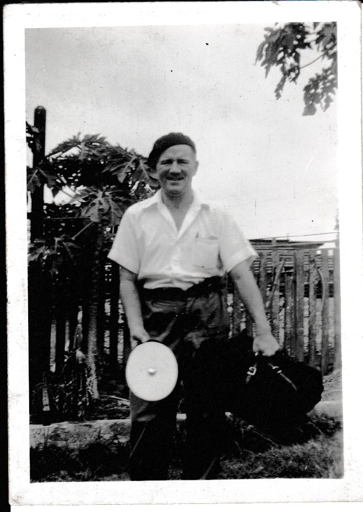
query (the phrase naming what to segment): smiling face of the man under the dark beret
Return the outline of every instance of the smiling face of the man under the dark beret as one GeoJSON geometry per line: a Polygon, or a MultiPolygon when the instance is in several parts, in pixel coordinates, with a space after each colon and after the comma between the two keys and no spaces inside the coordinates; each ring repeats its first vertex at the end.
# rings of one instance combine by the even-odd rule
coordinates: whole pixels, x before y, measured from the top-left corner
{"type": "Polygon", "coordinates": [[[191,180],[196,174],[198,162],[190,146],[170,146],[159,157],[153,178],[170,196],[183,196],[191,190],[191,180]]]}

